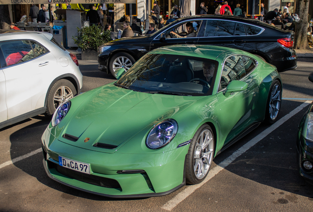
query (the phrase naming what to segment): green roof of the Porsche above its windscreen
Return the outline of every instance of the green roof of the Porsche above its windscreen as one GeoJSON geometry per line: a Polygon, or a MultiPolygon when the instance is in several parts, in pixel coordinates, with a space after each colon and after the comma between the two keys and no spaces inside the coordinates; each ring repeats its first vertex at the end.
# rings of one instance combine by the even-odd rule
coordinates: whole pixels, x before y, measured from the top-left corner
{"type": "Polygon", "coordinates": [[[225,56],[231,54],[248,54],[244,51],[228,47],[194,44],[164,46],[151,51],[149,54],[178,54],[215,60],[221,53],[224,53],[225,56]]]}

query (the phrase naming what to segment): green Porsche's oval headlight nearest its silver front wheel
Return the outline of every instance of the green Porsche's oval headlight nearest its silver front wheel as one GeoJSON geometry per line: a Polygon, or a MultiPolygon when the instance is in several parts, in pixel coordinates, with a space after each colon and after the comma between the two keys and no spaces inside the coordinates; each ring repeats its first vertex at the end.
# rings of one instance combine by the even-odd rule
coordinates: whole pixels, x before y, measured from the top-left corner
{"type": "Polygon", "coordinates": [[[174,119],[165,119],[158,123],[148,134],[146,145],[149,149],[158,149],[168,144],[176,135],[177,122],[174,119]]]}

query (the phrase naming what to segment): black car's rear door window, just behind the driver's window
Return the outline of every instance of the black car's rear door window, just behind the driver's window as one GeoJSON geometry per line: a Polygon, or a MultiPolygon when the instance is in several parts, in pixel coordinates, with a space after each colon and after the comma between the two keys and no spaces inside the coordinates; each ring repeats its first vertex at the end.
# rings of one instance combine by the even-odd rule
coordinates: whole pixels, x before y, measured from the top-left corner
{"type": "Polygon", "coordinates": [[[207,20],[204,37],[232,36],[235,31],[235,22],[207,20]]]}

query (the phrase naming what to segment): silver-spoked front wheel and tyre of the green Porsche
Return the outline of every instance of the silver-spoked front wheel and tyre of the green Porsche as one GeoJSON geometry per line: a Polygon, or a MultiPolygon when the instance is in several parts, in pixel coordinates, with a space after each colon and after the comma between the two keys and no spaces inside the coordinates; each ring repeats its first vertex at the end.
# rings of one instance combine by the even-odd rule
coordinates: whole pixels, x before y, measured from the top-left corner
{"type": "Polygon", "coordinates": [[[190,141],[186,161],[186,182],[201,183],[208,175],[215,151],[214,134],[207,124],[202,125],[190,141]]]}

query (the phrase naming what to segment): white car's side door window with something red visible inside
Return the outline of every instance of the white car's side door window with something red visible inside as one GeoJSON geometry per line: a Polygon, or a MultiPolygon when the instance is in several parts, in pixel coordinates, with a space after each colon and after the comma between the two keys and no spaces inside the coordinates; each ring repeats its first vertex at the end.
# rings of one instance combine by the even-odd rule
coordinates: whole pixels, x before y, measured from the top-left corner
{"type": "Polygon", "coordinates": [[[6,66],[22,63],[35,58],[31,43],[27,40],[0,43],[6,66]]]}

